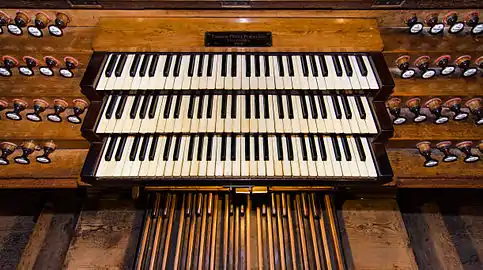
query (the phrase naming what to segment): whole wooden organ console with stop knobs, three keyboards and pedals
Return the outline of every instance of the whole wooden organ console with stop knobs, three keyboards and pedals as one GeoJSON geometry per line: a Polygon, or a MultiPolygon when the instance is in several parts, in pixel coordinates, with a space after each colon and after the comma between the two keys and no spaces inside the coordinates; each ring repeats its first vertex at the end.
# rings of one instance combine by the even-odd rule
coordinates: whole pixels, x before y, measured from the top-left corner
{"type": "Polygon", "coordinates": [[[367,267],[340,194],[483,185],[468,2],[6,1],[0,186],[132,189],[128,268],[367,267]]]}

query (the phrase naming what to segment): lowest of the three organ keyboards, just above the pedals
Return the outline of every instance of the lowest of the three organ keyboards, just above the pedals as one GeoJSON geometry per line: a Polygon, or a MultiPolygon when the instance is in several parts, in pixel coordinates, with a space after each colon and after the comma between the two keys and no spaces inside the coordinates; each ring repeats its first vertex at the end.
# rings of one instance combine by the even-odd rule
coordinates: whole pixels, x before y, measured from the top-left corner
{"type": "Polygon", "coordinates": [[[109,136],[96,177],[378,176],[366,137],[300,135],[109,136]]]}

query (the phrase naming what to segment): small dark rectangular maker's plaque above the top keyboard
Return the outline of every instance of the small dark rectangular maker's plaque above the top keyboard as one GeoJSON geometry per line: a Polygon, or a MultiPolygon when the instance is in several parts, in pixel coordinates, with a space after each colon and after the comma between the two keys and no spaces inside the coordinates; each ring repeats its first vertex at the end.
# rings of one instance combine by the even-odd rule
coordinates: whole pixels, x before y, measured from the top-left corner
{"type": "Polygon", "coordinates": [[[205,47],[271,47],[271,32],[206,32],[205,47]]]}

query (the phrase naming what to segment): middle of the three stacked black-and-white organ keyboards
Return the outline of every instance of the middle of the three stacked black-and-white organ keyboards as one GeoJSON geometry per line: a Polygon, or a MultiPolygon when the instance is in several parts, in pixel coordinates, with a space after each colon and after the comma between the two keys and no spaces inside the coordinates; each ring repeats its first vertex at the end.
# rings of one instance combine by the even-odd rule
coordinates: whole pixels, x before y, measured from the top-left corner
{"type": "Polygon", "coordinates": [[[345,95],[109,95],[95,133],[377,134],[369,100],[345,95]]]}

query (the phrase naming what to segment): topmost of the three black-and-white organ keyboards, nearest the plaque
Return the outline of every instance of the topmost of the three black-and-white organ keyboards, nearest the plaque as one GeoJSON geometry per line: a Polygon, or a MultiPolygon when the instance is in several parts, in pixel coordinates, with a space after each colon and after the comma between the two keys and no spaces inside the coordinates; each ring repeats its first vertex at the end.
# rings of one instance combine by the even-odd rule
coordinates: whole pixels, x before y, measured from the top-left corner
{"type": "Polygon", "coordinates": [[[111,53],[96,90],[379,89],[362,54],[111,53]]]}

